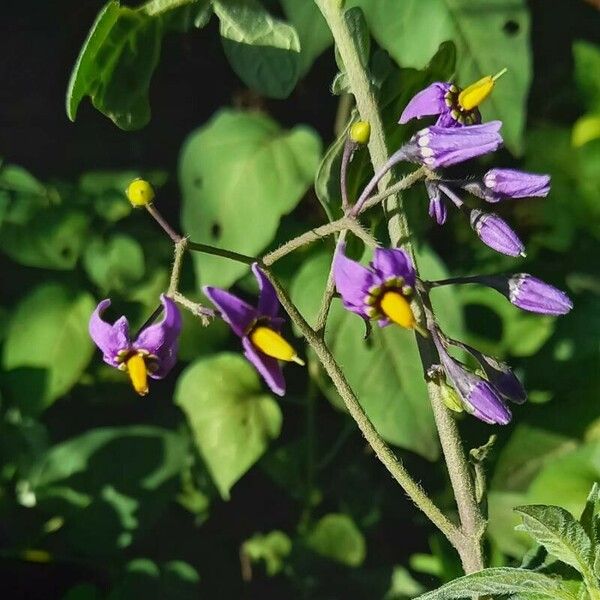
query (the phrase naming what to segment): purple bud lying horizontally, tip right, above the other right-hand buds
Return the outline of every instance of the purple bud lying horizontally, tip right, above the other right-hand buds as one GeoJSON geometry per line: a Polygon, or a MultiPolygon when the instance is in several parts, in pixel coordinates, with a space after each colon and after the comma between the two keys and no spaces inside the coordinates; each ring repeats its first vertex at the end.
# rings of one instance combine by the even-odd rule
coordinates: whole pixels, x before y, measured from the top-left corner
{"type": "Polygon", "coordinates": [[[543,197],[550,191],[550,175],[526,173],[516,169],[490,169],[481,181],[470,181],[463,187],[487,202],[543,197]]]}

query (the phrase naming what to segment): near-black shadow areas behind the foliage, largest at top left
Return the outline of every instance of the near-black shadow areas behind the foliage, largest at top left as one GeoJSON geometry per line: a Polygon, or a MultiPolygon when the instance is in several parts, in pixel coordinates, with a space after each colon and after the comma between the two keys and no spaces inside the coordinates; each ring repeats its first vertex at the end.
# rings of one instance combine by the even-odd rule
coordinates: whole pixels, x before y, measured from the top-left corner
{"type": "MultiPolygon", "coordinates": [[[[317,60],[289,99],[265,101],[247,92],[231,71],[221,50],[215,22],[202,31],[172,35],[165,40],[151,86],[152,120],[144,130],[120,131],[87,100],[80,108],[77,122],[71,123],[64,109],[68,78],[87,31],[103,4],[86,0],[2,1],[0,156],[5,160],[22,165],[46,180],[75,178],[90,169],[156,167],[169,172],[171,191],[176,191],[177,157],[187,134],[221,106],[257,102],[264,104],[284,125],[308,123],[318,130],[326,144],[331,140],[337,107],[337,99],[327,93],[336,71],[332,53],[317,60]]],[[[529,5],[535,61],[530,111],[535,112],[537,119],[547,116],[570,123],[578,110],[570,93],[572,42],[598,40],[597,9],[576,0],[535,0],[529,5]]],[[[171,212],[175,214],[175,205],[171,212]]],[[[327,419],[328,414],[323,418],[327,419]]],[[[360,451],[360,439],[352,441],[348,452],[360,451]]],[[[392,483],[385,477],[382,479],[385,481],[380,491],[385,490],[388,498],[398,499],[400,495],[392,492],[392,483]]],[[[213,565],[237,561],[231,547],[215,547],[214,540],[219,534],[226,535],[228,530],[237,531],[238,535],[242,532],[243,539],[244,532],[255,531],[256,522],[265,528],[271,521],[280,525],[286,515],[278,511],[285,511],[287,505],[279,502],[279,494],[259,470],[252,470],[239,483],[231,502],[213,507],[211,518],[198,530],[190,553],[210,554],[214,558],[213,565]],[[205,545],[202,538],[207,540],[205,545]]],[[[377,546],[382,557],[393,552],[392,540],[398,535],[403,536],[406,556],[425,550],[422,545],[426,540],[411,535],[414,521],[402,520],[403,513],[411,510],[410,503],[402,500],[397,521],[388,522],[389,531],[382,533],[377,546]]],[[[287,517],[293,525],[293,515],[287,517]]],[[[168,520],[147,537],[145,547],[137,549],[138,556],[143,556],[146,550],[156,557],[172,557],[170,548],[181,550],[180,541],[190,540],[189,526],[188,515],[172,511],[168,520]]],[[[0,524],[0,546],[1,535],[0,524]]],[[[198,556],[185,558],[199,559],[198,556]]],[[[400,562],[401,559],[395,553],[394,560],[400,562]]],[[[216,589],[219,578],[227,577],[227,573],[207,569],[202,569],[201,575],[203,582],[208,581],[209,589],[216,589]],[[215,587],[211,586],[211,580],[215,587]]],[[[78,564],[0,561],[2,598],[60,598],[80,580],[94,581],[104,587],[108,575],[78,564]]],[[[235,588],[231,582],[229,585],[235,588]]],[[[236,593],[235,597],[259,598],[266,593],[269,597],[281,597],[278,594],[283,593],[277,591],[276,582],[269,582],[268,592],[261,585],[257,580],[237,592],[226,587],[229,593],[236,593]]],[[[338,593],[343,597],[343,590],[338,589],[338,593]]]]}

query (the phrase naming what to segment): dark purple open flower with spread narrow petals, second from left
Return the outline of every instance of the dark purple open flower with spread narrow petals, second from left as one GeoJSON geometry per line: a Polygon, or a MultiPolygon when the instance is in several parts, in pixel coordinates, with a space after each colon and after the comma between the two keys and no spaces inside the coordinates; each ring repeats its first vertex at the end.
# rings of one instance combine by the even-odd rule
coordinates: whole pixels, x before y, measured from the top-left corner
{"type": "Polygon", "coordinates": [[[285,379],[278,361],[304,365],[292,346],[281,336],[283,319],[279,314],[277,294],[260,270],[252,265],[252,272],[260,289],[258,306],[250,306],[241,298],[221,288],[204,286],[202,289],[219,309],[223,320],[242,339],[244,355],[254,365],[269,388],[279,395],[285,394],[285,379]]]}

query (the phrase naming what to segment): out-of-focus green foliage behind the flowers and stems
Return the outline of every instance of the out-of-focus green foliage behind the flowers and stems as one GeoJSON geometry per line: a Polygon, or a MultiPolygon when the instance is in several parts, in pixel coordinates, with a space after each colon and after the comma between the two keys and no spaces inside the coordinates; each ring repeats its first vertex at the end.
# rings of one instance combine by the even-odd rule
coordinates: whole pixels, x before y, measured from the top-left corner
{"type": "MultiPolygon", "coordinates": [[[[573,14],[584,11],[572,4],[573,14]]],[[[573,567],[581,567],[580,557],[566,553],[564,540],[544,537],[540,523],[550,520],[557,529],[567,523],[588,564],[585,536],[597,543],[589,523],[597,524],[598,512],[597,498],[588,494],[600,480],[600,46],[573,32],[571,72],[548,94],[537,73],[529,87],[530,14],[522,0],[348,0],[346,8],[390,147],[421,126],[396,124],[415,92],[454,74],[465,84],[509,67],[483,107],[486,119],[505,123],[508,151],[493,164],[553,179],[548,198],[499,207],[526,239],[528,257],[492,253],[458,214],[438,228],[426,215],[421,186],[406,194],[405,204],[425,277],[527,271],[574,299],[575,310],[556,320],[519,312],[492,290],[440,288],[432,298],[450,335],[508,360],[529,391],[530,401],[501,430],[457,417],[468,447],[498,434],[485,460],[494,570],[476,584],[493,593],[525,577],[548,597],[558,589],[548,583],[550,573],[561,574],[567,593],[579,593],[573,567]],[[527,113],[530,91],[542,100],[527,113]],[[526,505],[546,508],[515,512],[526,505]],[[582,524],[574,525],[582,511],[582,524]],[[524,530],[515,530],[524,515],[524,530]],[[523,566],[533,568],[538,545],[555,559],[542,557],[548,564],[534,575],[513,568],[530,550],[523,566]]],[[[132,7],[112,0],[75,64],[68,116],[75,119],[89,97],[120,128],[144,126],[165,36],[183,34],[206,36],[215,52],[222,45],[254,94],[285,98],[304,87],[325,97],[332,83],[340,106],[346,102],[339,57],[337,75],[333,58],[319,59],[332,40],[312,2],[151,0],[132,7]]],[[[536,35],[533,50],[544,61],[554,40],[541,24],[536,35]]],[[[274,116],[279,104],[255,104],[262,110],[223,106],[182,140],[181,203],[169,200],[177,174],[156,165],[132,158],[131,170],[42,181],[28,165],[11,164],[5,146],[0,562],[5,572],[22,568],[26,577],[42,568],[67,573],[61,577],[70,589],[44,590],[43,597],[402,600],[461,573],[452,549],[365,448],[310,354],[305,371],[286,368],[289,393],[275,399],[222,323],[203,328],[186,313],[180,364],[140,399],[89,340],[97,301],[110,296],[108,317],[125,314],[135,330],[168,284],[170,241],[124,198],[134,177],[156,186],[161,210],[175,217],[181,209],[182,229],[193,240],[251,255],[322,224],[325,213],[339,214],[343,133],[320,139],[316,123],[297,124],[292,116],[283,125],[274,116]]],[[[490,164],[483,159],[468,172],[457,169],[457,177],[490,164]]],[[[370,174],[367,152],[358,150],[349,173],[352,197],[370,174]]],[[[382,218],[376,211],[369,218],[384,239],[382,218]]],[[[364,248],[352,242],[349,252],[359,257],[364,248]]],[[[332,253],[326,240],[277,265],[309,321],[332,253]]],[[[182,291],[199,299],[201,284],[210,283],[237,286],[249,298],[256,289],[246,275],[244,265],[195,255],[185,262],[182,291]]],[[[452,515],[414,341],[392,328],[368,340],[364,334],[360,319],[335,300],[327,339],[336,358],[380,433],[452,515]]],[[[464,582],[456,581],[443,597],[460,597],[464,582]]]]}

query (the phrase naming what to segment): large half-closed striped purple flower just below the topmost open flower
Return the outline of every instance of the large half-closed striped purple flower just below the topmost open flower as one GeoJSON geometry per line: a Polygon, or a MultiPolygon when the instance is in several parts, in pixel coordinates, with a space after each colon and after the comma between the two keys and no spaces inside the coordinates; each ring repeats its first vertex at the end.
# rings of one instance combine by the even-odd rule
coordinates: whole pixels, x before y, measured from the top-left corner
{"type": "Polygon", "coordinates": [[[448,167],[497,150],[501,126],[501,121],[458,128],[433,125],[418,131],[401,151],[407,160],[431,169],[448,167]]]}

